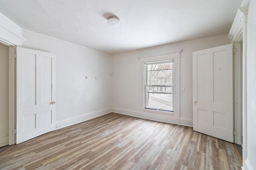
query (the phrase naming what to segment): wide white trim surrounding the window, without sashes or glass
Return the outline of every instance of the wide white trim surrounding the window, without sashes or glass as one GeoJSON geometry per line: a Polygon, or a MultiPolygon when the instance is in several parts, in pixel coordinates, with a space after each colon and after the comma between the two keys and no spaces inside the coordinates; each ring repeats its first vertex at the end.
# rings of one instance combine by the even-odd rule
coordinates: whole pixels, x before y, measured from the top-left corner
{"type": "MultiPolygon", "coordinates": [[[[172,51],[164,51],[161,53],[153,53],[148,55],[142,55],[139,58],[140,60],[140,117],[146,119],[156,119],[160,121],[166,121],[170,123],[180,124],[180,52],[182,49],[172,50],[172,51]],[[158,61],[174,61],[174,112],[169,111],[158,111],[158,110],[150,110],[144,108],[144,64],[149,62],[158,62],[158,61]],[[158,117],[155,117],[157,114],[158,117]],[[159,115],[168,115],[170,116],[168,120],[161,120],[159,115]]],[[[163,116],[164,117],[164,116],[163,116]]]]}

